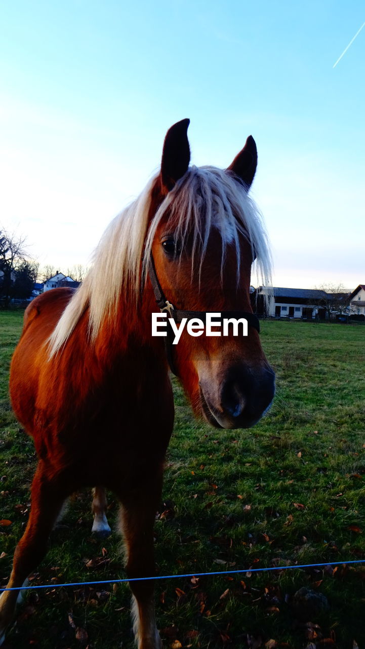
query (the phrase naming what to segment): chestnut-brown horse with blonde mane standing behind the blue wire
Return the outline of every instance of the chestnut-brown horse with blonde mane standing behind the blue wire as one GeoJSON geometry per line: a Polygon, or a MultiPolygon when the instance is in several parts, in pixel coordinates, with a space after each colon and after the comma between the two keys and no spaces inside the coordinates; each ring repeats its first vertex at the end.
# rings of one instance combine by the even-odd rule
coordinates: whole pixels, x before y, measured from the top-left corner
{"type": "MultiPolygon", "coordinates": [[[[104,487],[121,502],[128,577],[154,575],[154,517],[174,422],[167,358],[196,414],[217,428],[253,426],[274,396],[250,306],[253,259],[266,280],[269,271],[265,232],[247,194],[255,142],[250,136],[225,171],[189,167],[188,125],[184,119],[167,132],[160,173],[112,221],[82,286],[43,293],[25,312],[10,395],[38,467],[8,588],[36,568],[64,500],[88,485],[102,485],[94,491],[95,530],[108,529],[104,487]],[[159,308],[195,325],[209,312],[244,315],[248,335],[185,327],[171,345],[171,336],[152,336],[159,308]]],[[[153,581],[130,586],[138,647],[156,649],[153,581]]],[[[18,593],[1,595],[1,631],[18,593]]]]}

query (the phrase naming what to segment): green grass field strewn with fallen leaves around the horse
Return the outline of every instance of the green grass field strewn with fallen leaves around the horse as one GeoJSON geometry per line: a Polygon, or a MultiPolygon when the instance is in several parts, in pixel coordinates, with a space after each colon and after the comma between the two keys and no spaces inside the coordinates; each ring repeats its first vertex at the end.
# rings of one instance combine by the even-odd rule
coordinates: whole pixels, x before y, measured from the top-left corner
{"type": "MultiPolygon", "coordinates": [[[[0,313],[1,584],[27,520],[35,457],[7,395],[21,314],[0,313]]],[[[365,327],[268,321],[262,343],[277,395],[250,430],[193,419],[176,382],[176,425],[156,520],[158,573],[241,570],[156,583],[163,646],[365,647],[365,327]],[[331,567],[295,565],[340,561],[331,567]],[[264,567],[294,566],[275,572],[264,567]],[[329,608],[310,609],[306,587],[329,608]],[[312,643],[312,644],[311,644],[312,643]]],[[[102,443],[102,441],[100,441],[102,443]]],[[[111,526],[117,502],[109,495],[111,526]]],[[[32,584],[123,578],[116,532],[91,537],[88,492],[71,498],[32,584]]],[[[6,648],[132,648],[126,585],[32,592],[6,648]]],[[[314,606],[314,605],[313,605],[314,606]]]]}

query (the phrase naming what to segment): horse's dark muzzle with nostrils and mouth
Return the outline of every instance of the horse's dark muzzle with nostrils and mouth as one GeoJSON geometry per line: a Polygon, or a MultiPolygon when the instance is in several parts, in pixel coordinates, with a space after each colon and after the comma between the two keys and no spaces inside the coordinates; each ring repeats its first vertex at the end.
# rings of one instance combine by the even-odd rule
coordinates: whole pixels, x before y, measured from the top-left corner
{"type": "Polygon", "coordinates": [[[231,367],[220,382],[201,378],[200,405],[216,428],[250,428],[270,407],[275,374],[269,365],[260,369],[231,367]]]}

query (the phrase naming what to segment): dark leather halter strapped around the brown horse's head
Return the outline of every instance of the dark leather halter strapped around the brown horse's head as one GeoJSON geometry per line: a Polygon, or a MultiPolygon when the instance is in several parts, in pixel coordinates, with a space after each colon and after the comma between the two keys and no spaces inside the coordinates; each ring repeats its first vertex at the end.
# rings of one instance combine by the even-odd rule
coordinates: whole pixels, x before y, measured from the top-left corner
{"type": "MultiPolygon", "coordinates": [[[[183,318],[187,318],[188,320],[191,320],[192,318],[199,318],[203,322],[206,321],[207,311],[182,311],[180,309],[175,309],[174,306],[171,304],[171,302],[169,302],[169,300],[166,299],[165,294],[163,293],[163,290],[161,288],[161,284],[158,281],[158,276],[156,273],[156,268],[154,265],[154,258],[152,257],[152,253],[150,256],[150,262],[148,263],[148,275],[150,277],[150,282],[154,290],[154,296],[156,298],[156,302],[159,306],[159,310],[161,311],[161,313],[167,312],[169,314],[169,317],[173,318],[176,323],[181,323],[183,318]]],[[[226,318],[245,318],[247,320],[247,324],[252,326],[257,332],[260,332],[259,319],[257,315],[255,315],[254,313],[248,313],[246,311],[222,311],[221,313],[226,318]]],[[[166,356],[167,356],[167,360],[169,361],[172,374],[178,376],[178,372],[176,370],[176,366],[172,354],[173,339],[174,339],[174,332],[172,331],[171,324],[169,323],[167,325],[167,336],[164,337],[166,356]]]]}

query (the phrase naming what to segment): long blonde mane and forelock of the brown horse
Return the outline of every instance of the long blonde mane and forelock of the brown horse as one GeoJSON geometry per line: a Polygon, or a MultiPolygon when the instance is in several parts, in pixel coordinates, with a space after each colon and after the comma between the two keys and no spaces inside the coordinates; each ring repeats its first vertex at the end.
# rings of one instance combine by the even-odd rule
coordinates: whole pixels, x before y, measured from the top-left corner
{"type": "Polygon", "coordinates": [[[169,191],[148,228],[156,178],[152,178],[141,195],[106,228],[93,256],[91,270],[67,304],[49,338],[50,356],[63,347],[86,308],[89,308],[89,334],[95,340],[104,319],[117,312],[122,290],[132,289],[137,299],[156,230],[167,210],[169,218],[176,223],[175,236],[182,246],[187,234],[193,233],[192,269],[198,252],[199,278],[209,234],[214,227],[218,228],[222,238],[221,269],[226,246],[233,243],[237,252],[238,277],[241,234],[251,243],[257,275],[263,284],[270,286],[270,252],[261,214],[231,173],[216,167],[190,167],[169,191]]]}

